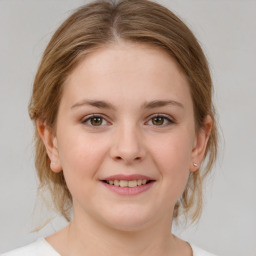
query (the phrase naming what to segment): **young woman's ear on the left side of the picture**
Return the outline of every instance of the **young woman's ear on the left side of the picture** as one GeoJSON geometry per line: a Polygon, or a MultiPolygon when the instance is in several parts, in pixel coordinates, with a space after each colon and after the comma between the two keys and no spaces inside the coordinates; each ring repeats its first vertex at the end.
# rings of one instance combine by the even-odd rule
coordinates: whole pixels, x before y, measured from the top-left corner
{"type": "Polygon", "coordinates": [[[60,158],[59,158],[57,138],[53,132],[53,129],[50,128],[46,124],[46,122],[42,122],[40,120],[36,121],[36,127],[37,127],[38,133],[45,145],[48,157],[51,161],[50,167],[51,167],[52,171],[56,172],[56,173],[62,171],[62,166],[61,166],[60,158]]]}

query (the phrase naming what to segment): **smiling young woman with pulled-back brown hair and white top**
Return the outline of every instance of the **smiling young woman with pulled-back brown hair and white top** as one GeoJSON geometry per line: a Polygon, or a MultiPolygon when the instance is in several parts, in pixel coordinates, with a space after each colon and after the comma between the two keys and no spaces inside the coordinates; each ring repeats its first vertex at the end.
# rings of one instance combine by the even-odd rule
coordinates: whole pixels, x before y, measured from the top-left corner
{"type": "Polygon", "coordinates": [[[217,152],[207,61],[172,12],[81,7],[48,44],[29,111],[40,188],[70,223],[5,256],[212,255],[171,233],[199,218],[217,152]]]}

